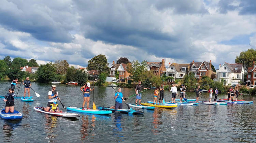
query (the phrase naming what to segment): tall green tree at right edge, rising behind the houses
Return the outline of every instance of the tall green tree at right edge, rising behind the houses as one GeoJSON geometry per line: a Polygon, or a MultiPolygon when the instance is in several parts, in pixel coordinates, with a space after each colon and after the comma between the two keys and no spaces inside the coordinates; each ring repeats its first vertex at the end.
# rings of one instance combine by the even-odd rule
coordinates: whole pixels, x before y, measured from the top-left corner
{"type": "Polygon", "coordinates": [[[244,64],[244,69],[248,70],[248,67],[252,66],[253,61],[256,60],[256,50],[248,49],[245,52],[241,52],[237,58],[235,58],[235,63],[244,64]]]}

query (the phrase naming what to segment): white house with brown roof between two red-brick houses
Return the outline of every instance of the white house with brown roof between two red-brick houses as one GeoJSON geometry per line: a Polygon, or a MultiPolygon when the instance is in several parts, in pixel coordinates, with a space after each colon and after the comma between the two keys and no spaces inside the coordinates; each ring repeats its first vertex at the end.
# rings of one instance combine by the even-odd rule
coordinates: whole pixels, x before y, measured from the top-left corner
{"type": "MultiPolygon", "coordinates": [[[[185,74],[188,72],[189,64],[177,64],[177,63],[169,63],[168,68],[166,69],[166,76],[173,77],[175,79],[177,78],[183,78],[185,74]]],[[[172,82],[170,80],[169,82],[172,82]]]]}

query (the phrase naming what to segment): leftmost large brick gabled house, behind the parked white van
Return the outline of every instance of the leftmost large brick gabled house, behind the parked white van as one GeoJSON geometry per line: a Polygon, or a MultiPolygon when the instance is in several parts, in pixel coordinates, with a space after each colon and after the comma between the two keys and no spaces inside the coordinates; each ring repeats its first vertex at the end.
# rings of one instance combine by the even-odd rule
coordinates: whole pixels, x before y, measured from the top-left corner
{"type": "Polygon", "coordinates": [[[109,76],[114,77],[116,72],[119,72],[119,80],[127,79],[130,76],[130,73],[127,72],[127,68],[127,64],[115,64],[115,61],[113,61],[109,70],[109,76]]]}

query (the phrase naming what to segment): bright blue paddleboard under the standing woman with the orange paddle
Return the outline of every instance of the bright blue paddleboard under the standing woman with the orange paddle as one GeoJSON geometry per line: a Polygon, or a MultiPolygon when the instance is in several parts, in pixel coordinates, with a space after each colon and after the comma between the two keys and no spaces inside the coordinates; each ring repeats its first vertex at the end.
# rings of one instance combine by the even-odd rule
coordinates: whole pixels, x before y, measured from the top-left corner
{"type": "Polygon", "coordinates": [[[82,110],[82,108],[77,108],[77,107],[67,107],[67,110],[73,111],[73,112],[78,112],[78,113],[87,113],[87,114],[99,114],[99,115],[108,115],[111,114],[112,111],[108,110],[93,110],[93,109],[85,109],[82,110]]]}

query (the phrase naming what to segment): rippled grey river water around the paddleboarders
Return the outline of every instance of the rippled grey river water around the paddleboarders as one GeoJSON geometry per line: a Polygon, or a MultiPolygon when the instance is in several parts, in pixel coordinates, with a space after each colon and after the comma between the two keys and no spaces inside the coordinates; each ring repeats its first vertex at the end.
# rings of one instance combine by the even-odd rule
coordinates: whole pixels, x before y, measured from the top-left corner
{"type": "MultiPolygon", "coordinates": [[[[0,81],[0,94],[6,94],[11,82],[0,81]]],[[[21,86],[23,87],[23,85],[21,86]]],[[[156,108],[143,115],[112,113],[108,116],[81,114],[78,118],[63,118],[34,111],[34,106],[46,106],[51,84],[32,83],[34,101],[15,100],[15,109],[23,114],[22,120],[0,119],[0,142],[255,142],[255,104],[178,106],[176,110],[156,108]]],[[[18,96],[22,96],[23,88],[18,96]]],[[[116,88],[117,89],[117,88],[116,88]]],[[[81,107],[80,86],[57,85],[62,103],[81,107]]],[[[17,94],[17,91],[15,91],[17,94]]],[[[95,87],[96,106],[113,106],[115,91],[112,87],[95,87]]],[[[124,98],[135,93],[132,88],[122,88],[124,98]]],[[[194,92],[186,93],[195,98],[194,92]]],[[[202,98],[207,100],[208,93],[202,98]]],[[[227,95],[220,94],[220,98],[227,95]]],[[[214,96],[213,96],[214,98],[214,96]]],[[[254,101],[255,96],[243,95],[240,99],[254,101]]],[[[165,101],[171,100],[170,92],[164,92],[165,101]]],[[[200,98],[201,99],[201,98],[200,98]]],[[[142,94],[142,102],[153,100],[153,90],[142,94]]],[[[213,100],[213,99],[212,99],[213,100]]],[[[1,105],[3,101],[1,100],[1,105]]],[[[135,96],[126,100],[135,103],[135,96]]],[[[90,107],[93,104],[91,92],[90,107]]],[[[62,109],[62,107],[60,106],[62,109]]],[[[127,106],[123,104],[123,108],[127,106]]],[[[64,109],[62,109],[64,110],[64,109]]]]}

